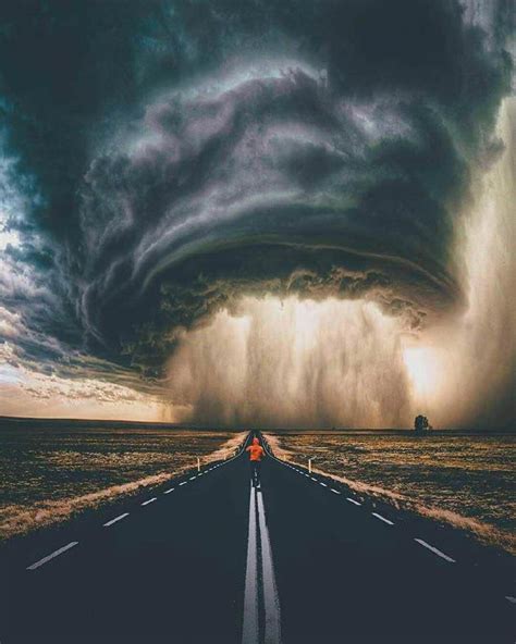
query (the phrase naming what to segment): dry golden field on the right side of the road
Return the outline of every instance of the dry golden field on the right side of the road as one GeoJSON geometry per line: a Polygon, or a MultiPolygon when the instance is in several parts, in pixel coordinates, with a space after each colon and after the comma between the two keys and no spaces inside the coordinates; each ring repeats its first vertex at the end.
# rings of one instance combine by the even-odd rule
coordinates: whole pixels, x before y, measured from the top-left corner
{"type": "Polygon", "coordinates": [[[516,549],[514,434],[269,432],[277,453],[516,549]]]}

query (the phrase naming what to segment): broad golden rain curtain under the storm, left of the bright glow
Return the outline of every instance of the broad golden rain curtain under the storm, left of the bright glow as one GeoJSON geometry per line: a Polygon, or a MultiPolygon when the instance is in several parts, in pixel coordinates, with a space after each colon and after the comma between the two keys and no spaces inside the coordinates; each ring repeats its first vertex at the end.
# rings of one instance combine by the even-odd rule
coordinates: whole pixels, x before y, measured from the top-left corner
{"type": "Polygon", "coordinates": [[[182,336],[169,374],[197,421],[398,426],[409,414],[400,329],[370,302],[244,299],[182,336]]]}

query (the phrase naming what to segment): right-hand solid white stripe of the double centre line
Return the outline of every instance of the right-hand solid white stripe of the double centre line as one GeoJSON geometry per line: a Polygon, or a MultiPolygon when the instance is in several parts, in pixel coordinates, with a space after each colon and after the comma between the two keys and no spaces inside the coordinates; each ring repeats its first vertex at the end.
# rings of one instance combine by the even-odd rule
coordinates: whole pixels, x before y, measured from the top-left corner
{"type": "Polygon", "coordinates": [[[281,644],[280,600],[278,599],[272,549],[266,522],[263,495],[261,492],[257,493],[257,497],[261,541],[261,579],[263,583],[263,607],[266,611],[266,632],[263,642],[266,644],[281,644]]]}

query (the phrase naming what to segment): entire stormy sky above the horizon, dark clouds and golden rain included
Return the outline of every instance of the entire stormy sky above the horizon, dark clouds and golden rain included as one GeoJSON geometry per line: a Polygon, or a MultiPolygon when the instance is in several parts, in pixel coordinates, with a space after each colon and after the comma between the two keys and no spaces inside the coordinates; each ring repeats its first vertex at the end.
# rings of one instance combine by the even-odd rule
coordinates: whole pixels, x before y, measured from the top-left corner
{"type": "Polygon", "coordinates": [[[512,426],[514,52],[506,0],[2,2],[0,413],[512,426]]]}

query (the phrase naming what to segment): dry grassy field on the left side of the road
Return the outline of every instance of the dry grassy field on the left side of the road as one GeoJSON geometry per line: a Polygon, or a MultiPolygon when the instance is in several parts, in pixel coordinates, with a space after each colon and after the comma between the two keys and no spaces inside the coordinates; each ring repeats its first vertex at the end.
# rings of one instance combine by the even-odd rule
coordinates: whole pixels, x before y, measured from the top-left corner
{"type": "Polygon", "coordinates": [[[232,454],[239,434],[120,423],[0,423],[0,538],[232,454]]]}

